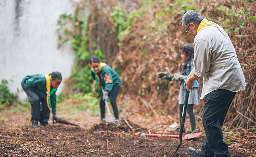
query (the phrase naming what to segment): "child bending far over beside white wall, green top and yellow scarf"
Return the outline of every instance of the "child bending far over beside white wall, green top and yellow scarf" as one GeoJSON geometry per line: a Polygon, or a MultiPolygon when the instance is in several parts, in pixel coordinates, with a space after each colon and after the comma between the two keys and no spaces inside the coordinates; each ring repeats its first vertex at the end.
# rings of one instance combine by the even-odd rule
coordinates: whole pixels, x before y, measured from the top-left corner
{"type": "Polygon", "coordinates": [[[31,104],[31,122],[33,128],[39,128],[38,122],[48,126],[50,108],[56,115],[56,91],[62,82],[60,72],[49,75],[35,74],[24,77],[21,82],[22,89],[26,92],[31,104]]]}

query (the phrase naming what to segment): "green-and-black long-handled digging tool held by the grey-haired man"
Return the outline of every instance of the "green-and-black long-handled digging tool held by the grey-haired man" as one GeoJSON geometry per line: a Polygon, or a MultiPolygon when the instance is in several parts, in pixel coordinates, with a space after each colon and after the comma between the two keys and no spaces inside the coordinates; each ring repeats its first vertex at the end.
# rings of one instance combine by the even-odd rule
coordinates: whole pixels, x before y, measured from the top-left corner
{"type": "Polygon", "coordinates": [[[182,134],[183,134],[183,129],[184,129],[184,123],[185,123],[185,118],[186,118],[188,101],[189,101],[189,91],[187,91],[187,89],[186,89],[185,100],[184,100],[184,105],[183,105],[183,110],[182,110],[181,124],[180,124],[180,136],[179,136],[180,144],[178,145],[178,147],[177,147],[176,151],[174,152],[173,156],[178,151],[178,149],[180,148],[180,146],[182,144],[182,141],[183,141],[182,134]]]}

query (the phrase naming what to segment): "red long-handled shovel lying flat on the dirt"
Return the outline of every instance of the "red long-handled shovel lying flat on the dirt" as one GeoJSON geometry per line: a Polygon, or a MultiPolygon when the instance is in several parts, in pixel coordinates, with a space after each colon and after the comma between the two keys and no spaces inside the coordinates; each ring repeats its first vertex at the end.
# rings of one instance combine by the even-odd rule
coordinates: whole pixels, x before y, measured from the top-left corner
{"type": "MultiPolygon", "coordinates": [[[[192,139],[195,137],[198,137],[202,135],[204,132],[199,132],[199,133],[193,133],[193,134],[187,134],[182,137],[182,140],[187,140],[187,139],[192,139]]],[[[147,134],[143,132],[138,132],[135,134],[135,136],[148,136],[148,137],[174,137],[174,138],[180,138],[179,135],[166,135],[166,134],[147,134]]]]}

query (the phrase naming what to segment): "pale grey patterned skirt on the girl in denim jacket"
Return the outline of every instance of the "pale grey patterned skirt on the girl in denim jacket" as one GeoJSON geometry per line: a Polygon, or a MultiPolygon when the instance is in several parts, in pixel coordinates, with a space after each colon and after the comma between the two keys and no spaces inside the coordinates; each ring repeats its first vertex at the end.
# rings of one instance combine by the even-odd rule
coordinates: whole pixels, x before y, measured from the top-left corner
{"type": "MultiPolygon", "coordinates": [[[[182,86],[180,86],[179,104],[184,104],[185,93],[186,89],[182,89],[182,86]]],[[[199,105],[199,88],[191,88],[188,104],[199,105]]]]}

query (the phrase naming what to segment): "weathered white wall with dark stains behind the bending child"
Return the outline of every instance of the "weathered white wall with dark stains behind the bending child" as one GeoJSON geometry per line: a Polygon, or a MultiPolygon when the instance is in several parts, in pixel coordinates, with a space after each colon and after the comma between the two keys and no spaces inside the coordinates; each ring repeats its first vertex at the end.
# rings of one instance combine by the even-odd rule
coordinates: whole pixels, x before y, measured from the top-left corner
{"type": "Polygon", "coordinates": [[[63,80],[69,77],[75,53],[70,42],[58,49],[56,29],[59,16],[74,9],[70,0],[0,0],[0,81],[6,79],[12,93],[27,75],[59,71],[63,80]]]}

